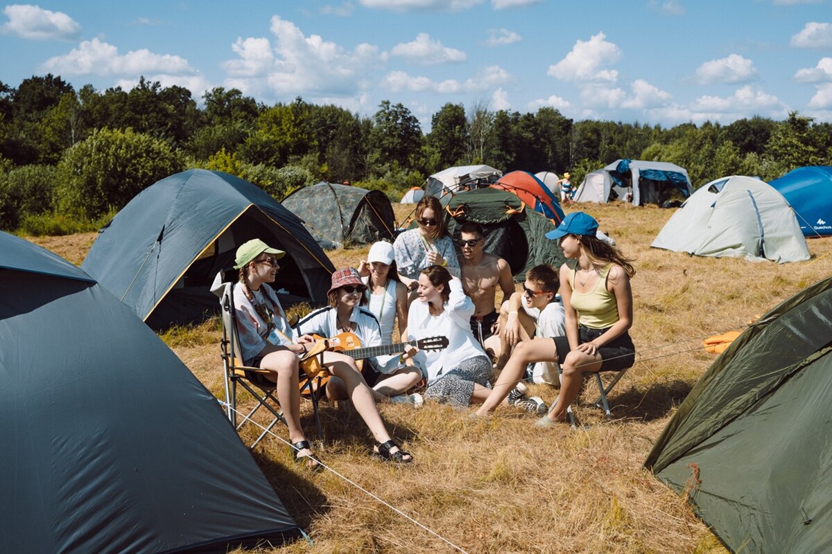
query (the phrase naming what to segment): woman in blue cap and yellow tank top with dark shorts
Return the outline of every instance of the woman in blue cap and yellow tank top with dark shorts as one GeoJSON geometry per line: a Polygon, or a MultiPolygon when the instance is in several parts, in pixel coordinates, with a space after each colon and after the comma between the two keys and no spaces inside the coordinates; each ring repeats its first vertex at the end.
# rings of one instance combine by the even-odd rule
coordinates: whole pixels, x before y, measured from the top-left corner
{"type": "MultiPolygon", "coordinates": [[[[598,222],[591,215],[575,212],[546,233],[547,238],[560,241],[567,258],[560,269],[567,336],[555,337],[549,348],[548,359],[561,364],[561,391],[549,413],[537,421],[539,427],[566,421],[569,404],[581,392],[584,372],[621,371],[636,361],[629,333],[630,279],[636,270],[630,258],[597,238],[597,230],[598,222]]],[[[546,359],[529,356],[523,344],[508,360],[507,369],[513,362],[546,359]]]]}

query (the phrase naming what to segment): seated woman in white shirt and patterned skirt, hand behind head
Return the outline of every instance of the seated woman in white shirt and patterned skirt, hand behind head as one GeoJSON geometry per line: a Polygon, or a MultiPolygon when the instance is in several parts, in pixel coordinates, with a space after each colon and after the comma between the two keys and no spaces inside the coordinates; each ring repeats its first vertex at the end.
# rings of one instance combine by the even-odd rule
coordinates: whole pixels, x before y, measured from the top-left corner
{"type": "Polygon", "coordinates": [[[418,351],[413,363],[428,380],[425,398],[461,408],[477,404],[491,392],[491,359],[471,332],[474,306],[463,284],[445,267],[425,267],[418,276],[418,302],[410,304],[408,338],[445,336],[442,351],[418,351]]]}

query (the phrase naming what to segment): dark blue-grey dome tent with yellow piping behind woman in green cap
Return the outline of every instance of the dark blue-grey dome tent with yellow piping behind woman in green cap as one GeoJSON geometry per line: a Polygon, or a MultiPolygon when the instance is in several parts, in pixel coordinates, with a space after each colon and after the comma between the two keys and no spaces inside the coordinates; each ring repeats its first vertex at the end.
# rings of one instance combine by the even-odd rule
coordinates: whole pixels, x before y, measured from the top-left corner
{"type": "Polygon", "coordinates": [[[286,251],[275,287],[285,292],[284,305],[326,303],[334,267],[300,219],[219,171],[191,169],[137,194],[99,231],[81,267],[160,329],[218,311],[210,283],[251,238],[286,251]]]}

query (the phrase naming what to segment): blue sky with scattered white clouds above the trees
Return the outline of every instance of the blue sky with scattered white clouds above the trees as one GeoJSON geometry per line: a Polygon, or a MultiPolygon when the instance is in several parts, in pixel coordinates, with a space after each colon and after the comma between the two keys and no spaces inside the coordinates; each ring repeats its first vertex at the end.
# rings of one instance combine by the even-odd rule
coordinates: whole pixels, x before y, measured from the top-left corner
{"type": "Polygon", "coordinates": [[[443,105],[574,120],[832,121],[832,0],[142,0],[0,4],[0,81],[140,76],[300,96],[423,130],[443,105]]]}

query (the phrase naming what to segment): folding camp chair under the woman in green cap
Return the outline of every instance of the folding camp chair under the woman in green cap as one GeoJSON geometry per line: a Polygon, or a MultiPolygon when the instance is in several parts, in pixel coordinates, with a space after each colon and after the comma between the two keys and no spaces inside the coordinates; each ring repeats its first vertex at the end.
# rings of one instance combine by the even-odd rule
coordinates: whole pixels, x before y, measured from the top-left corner
{"type": "MultiPolygon", "coordinates": [[[[233,287],[233,282],[222,282],[218,287],[212,288],[215,294],[220,297],[220,311],[222,314],[220,357],[222,358],[225,378],[225,400],[220,400],[220,404],[225,409],[225,414],[228,416],[231,424],[238,431],[247,422],[253,420],[253,416],[260,408],[265,408],[274,416],[270,424],[265,426],[265,430],[250,445],[250,448],[254,449],[278,421],[285,424],[286,420],[283,417],[282,410],[275,409],[272,405],[279,406],[280,402],[275,396],[275,384],[265,378],[265,375],[269,374],[270,371],[243,365],[241,361],[240,337],[237,334],[233,287]],[[255,407],[250,409],[248,414],[245,414],[239,424],[237,423],[237,385],[247,390],[256,401],[255,407]]],[[[319,343],[311,349],[310,354],[307,355],[305,360],[301,361],[302,368],[300,375],[301,394],[309,396],[310,400],[312,400],[315,426],[320,439],[323,439],[324,434],[318,414],[318,397],[319,391],[323,390],[324,383],[326,380],[329,380],[329,372],[325,370],[323,365],[323,353],[326,347],[326,344],[319,343]]]]}

